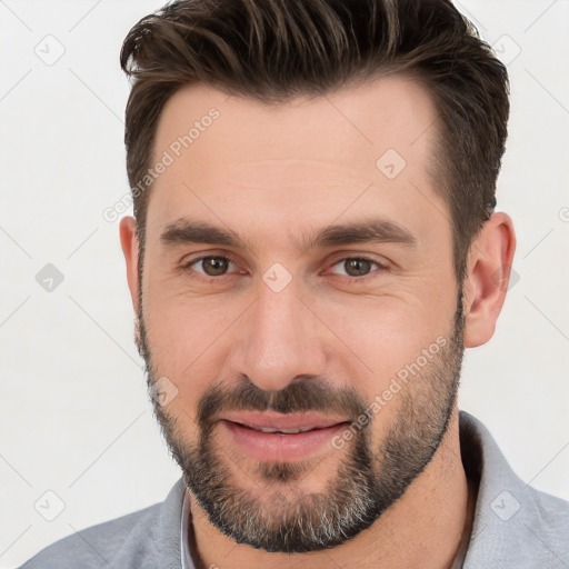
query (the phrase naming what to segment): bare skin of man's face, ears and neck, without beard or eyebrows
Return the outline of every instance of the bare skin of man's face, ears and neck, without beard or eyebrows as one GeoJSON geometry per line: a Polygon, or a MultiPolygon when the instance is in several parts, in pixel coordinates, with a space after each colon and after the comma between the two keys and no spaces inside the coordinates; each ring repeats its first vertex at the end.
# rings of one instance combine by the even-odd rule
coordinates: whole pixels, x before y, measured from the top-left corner
{"type": "MultiPolygon", "coordinates": [[[[373,400],[437,337],[449,338],[459,287],[449,209],[427,170],[437,116],[420,84],[389,77],[276,108],[188,86],[162,111],[156,158],[211,107],[219,119],[153,182],[142,282],[136,221],[127,217],[120,224],[133,308],[143,312],[157,377],[168,377],[178,389],[167,410],[186,446],[198,441],[198,403],[206,390],[234,387],[242,376],[277,391],[310,375],[373,400]],[[389,148],[407,162],[392,180],[376,167],[389,148]],[[405,227],[417,246],[297,247],[300,236],[371,214],[405,227]],[[248,247],[160,242],[164,228],[183,217],[230,228],[248,247]],[[180,269],[202,254],[231,256],[229,276],[207,280],[201,263],[193,271],[180,269]],[[340,261],[361,256],[387,269],[371,266],[369,278],[356,283],[340,261]],[[276,262],[291,276],[278,293],[262,280],[276,262]]],[[[513,251],[511,219],[492,214],[468,258],[467,348],[493,335],[513,251]]],[[[393,397],[372,421],[375,446],[395,425],[401,400],[393,397]]],[[[236,453],[228,439],[214,440],[234,483],[263,500],[270,486],[254,472],[254,461],[236,453]]],[[[328,447],[299,482],[301,489],[323,491],[342,458],[328,447]]],[[[298,490],[295,483],[282,489],[290,499],[298,490]]],[[[471,518],[467,502],[453,406],[437,452],[403,496],[369,529],[333,549],[292,556],[253,549],[219,531],[193,497],[191,511],[203,567],[440,569],[450,567],[471,518]]]]}

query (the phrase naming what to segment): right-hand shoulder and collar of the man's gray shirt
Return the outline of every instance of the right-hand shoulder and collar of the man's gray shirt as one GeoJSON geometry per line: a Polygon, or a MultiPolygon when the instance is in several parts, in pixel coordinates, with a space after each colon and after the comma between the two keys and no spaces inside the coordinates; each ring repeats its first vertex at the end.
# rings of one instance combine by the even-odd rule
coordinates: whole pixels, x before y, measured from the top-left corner
{"type": "Polygon", "coordinates": [[[461,459],[479,480],[465,568],[569,567],[569,501],[521,480],[482,422],[460,411],[461,459]]]}

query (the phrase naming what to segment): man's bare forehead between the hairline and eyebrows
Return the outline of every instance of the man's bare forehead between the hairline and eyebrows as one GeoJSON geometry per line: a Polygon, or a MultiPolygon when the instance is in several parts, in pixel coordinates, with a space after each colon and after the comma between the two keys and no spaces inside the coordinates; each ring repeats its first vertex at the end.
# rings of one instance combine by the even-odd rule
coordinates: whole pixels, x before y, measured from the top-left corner
{"type": "Polygon", "coordinates": [[[431,97],[407,77],[272,106],[186,86],[158,123],[153,163],[168,154],[169,164],[152,184],[148,226],[196,217],[196,209],[213,220],[212,208],[244,224],[272,210],[283,223],[326,223],[379,203],[388,218],[417,218],[421,193],[437,200],[429,173],[436,136],[431,97]]]}

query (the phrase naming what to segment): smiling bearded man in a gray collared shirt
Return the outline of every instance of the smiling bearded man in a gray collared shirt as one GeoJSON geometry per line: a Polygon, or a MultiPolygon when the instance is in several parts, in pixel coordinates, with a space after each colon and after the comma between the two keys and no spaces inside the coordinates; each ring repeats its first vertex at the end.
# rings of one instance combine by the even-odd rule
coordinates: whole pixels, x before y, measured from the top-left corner
{"type": "Polygon", "coordinates": [[[23,567],[568,567],[459,411],[505,301],[505,67],[447,0],[180,1],[127,37],[120,239],[163,503],[23,567]]]}

